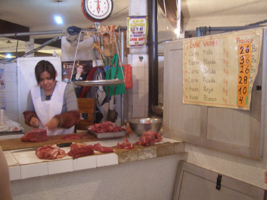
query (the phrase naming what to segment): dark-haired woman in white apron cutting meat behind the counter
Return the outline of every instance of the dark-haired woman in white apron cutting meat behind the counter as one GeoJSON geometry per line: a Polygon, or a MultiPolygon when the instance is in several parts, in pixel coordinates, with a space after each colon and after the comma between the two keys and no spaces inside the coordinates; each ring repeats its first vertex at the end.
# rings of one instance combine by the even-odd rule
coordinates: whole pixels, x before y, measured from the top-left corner
{"type": "Polygon", "coordinates": [[[34,128],[46,127],[48,135],[74,133],[74,125],[80,121],[77,98],[71,85],[56,81],[56,77],[50,62],[36,64],[38,84],[28,94],[25,123],[34,128]]]}

